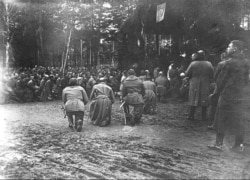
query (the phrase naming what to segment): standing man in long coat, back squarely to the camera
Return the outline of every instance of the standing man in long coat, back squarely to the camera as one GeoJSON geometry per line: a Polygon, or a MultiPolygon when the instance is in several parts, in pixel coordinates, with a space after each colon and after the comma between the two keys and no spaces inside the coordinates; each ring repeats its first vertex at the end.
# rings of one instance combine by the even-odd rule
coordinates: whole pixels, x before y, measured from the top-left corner
{"type": "Polygon", "coordinates": [[[190,79],[188,99],[191,107],[188,119],[194,120],[196,107],[201,107],[201,118],[206,120],[208,97],[213,81],[214,69],[212,64],[205,60],[205,52],[203,50],[193,54],[192,59],[193,61],[185,73],[190,79]]]}

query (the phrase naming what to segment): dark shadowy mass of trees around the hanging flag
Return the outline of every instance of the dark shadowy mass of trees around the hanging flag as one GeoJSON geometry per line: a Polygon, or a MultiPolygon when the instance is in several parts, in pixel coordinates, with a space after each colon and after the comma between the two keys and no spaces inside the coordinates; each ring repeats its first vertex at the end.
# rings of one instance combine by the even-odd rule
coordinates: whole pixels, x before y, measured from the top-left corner
{"type": "MultiPolygon", "coordinates": [[[[201,48],[211,58],[218,58],[230,40],[250,42],[247,32],[240,28],[247,9],[249,2],[244,0],[141,0],[134,15],[121,27],[124,38],[121,57],[127,54],[124,59],[131,59],[133,64],[140,51],[136,50],[139,53],[133,55],[135,48],[131,48],[130,53],[130,49],[124,47],[139,47],[137,41],[142,40],[140,44],[146,46],[141,47],[145,49],[142,54],[146,55],[139,58],[142,66],[147,62],[145,59],[154,58],[150,56],[152,53],[148,53],[148,47],[153,47],[151,52],[154,56],[158,54],[160,62],[163,62],[160,65],[168,65],[170,60],[180,58],[183,53],[189,57],[201,48]],[[162,3],[166,3],[165,16],[163,21],[157,23],[157,5],[162,3]],[[128,42],[132,45],[126,46],[128,42]]],[[[154,59],[154,62],[157,64],[159,61],[154,59]]]]}

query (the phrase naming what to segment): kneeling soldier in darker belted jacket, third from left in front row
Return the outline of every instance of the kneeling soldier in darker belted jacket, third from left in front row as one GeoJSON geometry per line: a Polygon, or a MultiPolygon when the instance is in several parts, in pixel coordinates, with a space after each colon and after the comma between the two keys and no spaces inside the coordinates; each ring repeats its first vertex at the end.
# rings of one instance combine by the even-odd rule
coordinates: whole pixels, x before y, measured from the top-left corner
{"type": "Polygon", "coordinates": [[[128,108],[133,106],[133,113],[130,114],[130,124],[134,125],[135,123],[140,123],[143,112],[143,97],[145,95],[145,87],[141,80],[135,76],[135,71],[129,69],[128,77],[123,83],[122,87],[122,97],[125,101],[125,113],[130,114],[128,108]]]}

